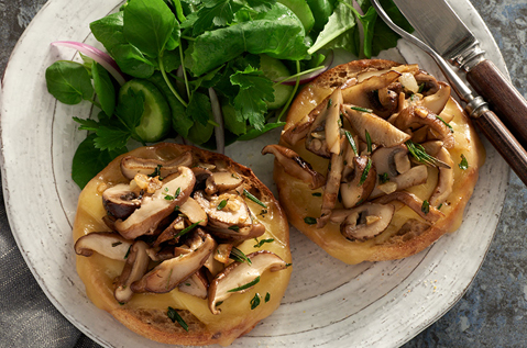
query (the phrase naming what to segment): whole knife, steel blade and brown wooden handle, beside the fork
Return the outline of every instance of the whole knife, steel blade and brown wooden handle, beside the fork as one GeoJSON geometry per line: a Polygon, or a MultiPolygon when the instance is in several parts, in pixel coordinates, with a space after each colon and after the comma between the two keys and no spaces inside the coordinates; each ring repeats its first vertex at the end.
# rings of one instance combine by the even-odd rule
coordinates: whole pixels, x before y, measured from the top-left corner
{"type": "Polygon", "coordinates": [[[496,66],[484,58],[480,42],[452,8],[444,0],[394,2],[425,43],[466,72],[469,83],[527,148],[527,101],[496,66]]]}

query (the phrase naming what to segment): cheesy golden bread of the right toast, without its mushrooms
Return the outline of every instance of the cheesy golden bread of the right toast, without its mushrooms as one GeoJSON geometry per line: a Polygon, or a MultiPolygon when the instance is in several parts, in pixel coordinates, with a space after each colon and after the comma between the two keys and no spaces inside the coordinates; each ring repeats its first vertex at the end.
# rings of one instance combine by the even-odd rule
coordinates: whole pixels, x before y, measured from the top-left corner
{"type": "MultiPolygon", "coordinates": [[[[388,60],[356,60],[326,71],[319,79],[314,80],[298,94],[287,116],[285,130],[293,127],[312,109],[316,108],[332,90],[358,74],[365,70],[384,70],[399,64],[388,60]]],[[[453,192],[447,198],[440,211],[444,217],[433,225],[425,225],[422,218],[403,204],[397,205],[397,215],[389,227],[381,235],[365,242],[351,242],[340,233],[338,224],[327,224],[317,228],[316,224],[307,224],[305,217],[320,216],[321,198],[312,195],[321,193],[323,189],[310,190],[300,180],[287,175],[284,168],[275,160],[274,180],[278,189],[282,206],[286,211],[289,223],[308,236],[331,256],[347,262],[381,261],[399,259],[417,254],[448,232],[455,231],[460,224],[464,207],[477,181],[479,167],[484,162],[484,148],[472,127],[466,114],[450,99],[443,112],[453,114],[450,122],[454,128],[455,146],[449,149],[454,161],[453,192]],[[461,155],[468,159],[469,168],[458,167],[461,155]],[[407,225],[405,223],[408,222],[407,225]]],[[[442,114],[442,113],[441,113],[442,114]]],[[[326,175],[328,160],[320,158],[305,148],[304,141],[295,145],[281,138],[281,145],[295,150],[301,158],[311,164],[315,170],[326,175]]],[[[437,169],[428,168],[428,181],[408,189],[421,200],[428,200],[437,183],[437,169]]]]}

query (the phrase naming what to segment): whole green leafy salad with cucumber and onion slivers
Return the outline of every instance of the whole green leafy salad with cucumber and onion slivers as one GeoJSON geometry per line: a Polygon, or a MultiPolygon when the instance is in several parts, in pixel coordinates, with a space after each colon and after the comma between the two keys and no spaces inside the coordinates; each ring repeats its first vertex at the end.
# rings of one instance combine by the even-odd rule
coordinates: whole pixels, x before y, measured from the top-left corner
{"type": "MultiPolygon", "coordinates": [[[[410,30],[392,0],[381,2],[410,30]]],[[[50,66],[48,91],[100,110],[74,117],[88,131],[74,181],[84,188],[130,139],[179,137],[223,151],[283,126],[299,85],[331,65],[333,49],[370,58],[396,46],[376,18],[369,0],[129,0],[90,23],[106,53],[53,43],[78,49],[83,63],[50,66]]]]}

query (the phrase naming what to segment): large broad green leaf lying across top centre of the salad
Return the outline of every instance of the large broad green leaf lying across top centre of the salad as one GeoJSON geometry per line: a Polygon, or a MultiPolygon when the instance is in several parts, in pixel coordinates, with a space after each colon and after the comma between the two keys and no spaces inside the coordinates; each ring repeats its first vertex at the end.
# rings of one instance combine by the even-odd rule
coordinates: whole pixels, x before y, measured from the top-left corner
{"type": "Polygon", "coordinates": [[[266,53],[278,59],[307,56],[305,31],[298,18],[285,5],[275,3],[268,12],[251,22],[206,32],[194,42],[191,70],[205,74],[244,52],[266,53]]]}

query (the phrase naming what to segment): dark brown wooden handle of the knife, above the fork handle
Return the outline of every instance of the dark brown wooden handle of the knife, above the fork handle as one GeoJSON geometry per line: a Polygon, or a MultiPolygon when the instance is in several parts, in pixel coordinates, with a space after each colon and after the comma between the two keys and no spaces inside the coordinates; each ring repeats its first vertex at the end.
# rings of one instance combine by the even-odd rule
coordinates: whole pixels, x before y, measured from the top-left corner
{"type": "Polygon", "coordinates": [[[485,99],[505,126],[527,148],[527,101],[490,60],[466,72],[466,80],[485,99]]]}

